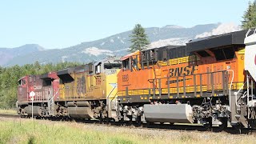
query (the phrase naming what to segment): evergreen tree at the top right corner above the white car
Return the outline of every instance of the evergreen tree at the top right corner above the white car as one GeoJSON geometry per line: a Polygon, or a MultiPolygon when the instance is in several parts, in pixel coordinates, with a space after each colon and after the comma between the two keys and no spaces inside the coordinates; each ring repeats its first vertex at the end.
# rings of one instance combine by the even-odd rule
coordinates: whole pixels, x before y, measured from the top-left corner
{"type": "Polygon", "coordinates": [[[244,30],[256,26],[256,1],[249,2],[249,6],[243,15],[242,28],[244,30]]]}

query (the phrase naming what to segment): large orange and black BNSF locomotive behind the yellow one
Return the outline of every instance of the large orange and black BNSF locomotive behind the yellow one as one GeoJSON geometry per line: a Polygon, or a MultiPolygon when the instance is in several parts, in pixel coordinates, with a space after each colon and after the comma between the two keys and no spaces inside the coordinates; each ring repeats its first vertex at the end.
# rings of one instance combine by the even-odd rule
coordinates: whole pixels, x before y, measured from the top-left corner
{"type": "MultiPolygon", "coordinates": [[[[121,58],[119,120],[254,127],[255,68],[244,67],[245,42],[252,45],[249,54],[256,50],[253,32],[199,38],[186,46],[164,46],[121,58]]],[[[247,62],[254,63],[254,57],[255,52],[247,62]]]]}

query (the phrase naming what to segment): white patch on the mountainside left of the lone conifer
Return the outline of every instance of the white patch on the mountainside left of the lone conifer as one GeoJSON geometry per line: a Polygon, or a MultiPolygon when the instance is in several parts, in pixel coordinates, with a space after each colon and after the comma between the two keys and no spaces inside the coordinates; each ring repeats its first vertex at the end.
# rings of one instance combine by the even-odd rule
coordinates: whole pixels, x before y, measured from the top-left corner
{"type": "Polygon", "coordinates": [[[110,55],[110,56],[114,55],[113,51],[111,51],[111,50],[101,50],[101,49],[98,49],[97,47],[88,47],[85,50],[82,50],[82,53],[95,55],[95,56],[98,56],[101,54],[106,54],[106,55],[110,55]]]}

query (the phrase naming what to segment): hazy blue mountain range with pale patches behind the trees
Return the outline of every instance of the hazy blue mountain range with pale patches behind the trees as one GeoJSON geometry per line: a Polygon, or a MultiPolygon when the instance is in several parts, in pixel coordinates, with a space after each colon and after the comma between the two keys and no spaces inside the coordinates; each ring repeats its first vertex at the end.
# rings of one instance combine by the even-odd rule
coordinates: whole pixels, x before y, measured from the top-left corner
{"type": "MultiPolygon", "coordinates": [[[[226,27],[222,25],[223,24],[220,23],[206,24],[190,28],[167,25],[163,27],[150,27],[145,30],[150,42],[152,42],[150,47],[160,47],[166,45],[184,45],[190,39],[198,38],[201,35],[217,34],[217,32],[221,33],[222,30],[219,30],[219,27],[225,28],[226,30],[226,27]]],[[[0,55],[5,55],[5,57],[2,57],[1,55],[0,61],[2,63],[0,63],[0,65],[24,65],[27,63],[34,63],[35,61],[38,61],[41,64],[65,61],[86,63],[97,61],[98,59],[106,58],[107,56],[122,56],[128,53],[127,49],[130,46],[130,34],[131,30],[92,42],[82,42],[76,46],[70,46],[63,49],[47,50],[38,45],[25,45],[13,49],[0,49],[0,55]],[[34,47],[34,49],[32,47],[34,47]],[[9,50],[9,52],[5,53],[4,50],[9,50]]]]}

